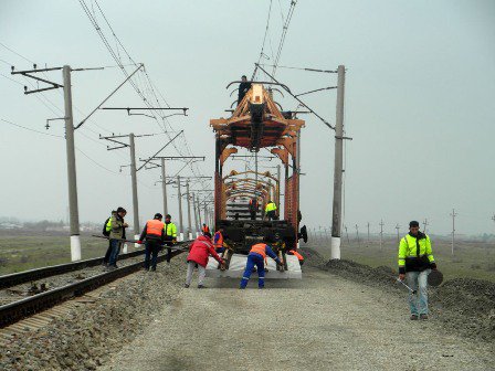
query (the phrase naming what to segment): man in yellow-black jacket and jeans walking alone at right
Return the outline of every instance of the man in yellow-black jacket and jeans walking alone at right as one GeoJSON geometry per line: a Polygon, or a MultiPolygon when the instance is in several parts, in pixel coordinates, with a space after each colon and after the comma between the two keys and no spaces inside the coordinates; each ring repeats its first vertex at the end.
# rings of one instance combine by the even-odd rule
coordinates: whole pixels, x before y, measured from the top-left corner
{"type": "Polygon", "coordinates": [[[436,269],[430,237],[420,232],[420,223],[409,223],[409,233],[399,244],[399,279],[408,282],[411,319],[428,319],[428,275],[436,269]],[[415,292],[415,293],[413,293],[415,292]]]}

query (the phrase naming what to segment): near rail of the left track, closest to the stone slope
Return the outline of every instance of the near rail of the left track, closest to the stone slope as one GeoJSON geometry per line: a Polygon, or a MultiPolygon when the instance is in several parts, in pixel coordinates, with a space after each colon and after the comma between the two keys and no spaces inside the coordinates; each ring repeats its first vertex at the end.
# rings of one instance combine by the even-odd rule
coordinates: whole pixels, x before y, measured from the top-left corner
{"type": "MultiPolygon", "coordinates": [[[[190,243],[190,241],[181,242],[178,245],[185,245],[187,243],[190,243]]],[[[172,251],[171,255],[173,257],[180,253],[182,253],[182,251],[176,250],[172,251]]],[[[165,259],[166,254],[158,256],[158,262],[162,262],[165,259]]],[[[7,327],[22,320],[23,318],[54,307],[55,305],[75,296],[84,295],[85,293],[94,290],[95,288],[104,286],[115,279],[133,274],[141,267],[143,262],[138,262],[122,268],[102,273],[74,284],[54,288],[45,293],[0,306],[0,328],[7,327]]]]}

